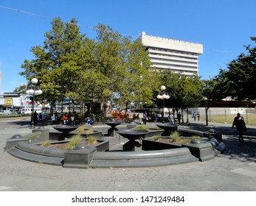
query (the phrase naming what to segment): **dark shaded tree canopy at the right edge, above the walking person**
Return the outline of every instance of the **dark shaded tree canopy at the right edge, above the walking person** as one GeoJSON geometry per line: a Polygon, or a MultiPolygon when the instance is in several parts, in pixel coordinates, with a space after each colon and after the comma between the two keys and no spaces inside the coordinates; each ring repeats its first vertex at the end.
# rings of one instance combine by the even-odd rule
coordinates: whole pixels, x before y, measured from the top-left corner
{"type": "MultiPolygon", "coordinates": [[[[256,38],[251,40],[256,42],[256,38]]],[[[236,100],[252,101],[256,99],[256,46],[245,46],[246,53],[227,64],[216,77],[204,81],[204,95],[208,99],[220,100],[231,96],[236,100]]]]}

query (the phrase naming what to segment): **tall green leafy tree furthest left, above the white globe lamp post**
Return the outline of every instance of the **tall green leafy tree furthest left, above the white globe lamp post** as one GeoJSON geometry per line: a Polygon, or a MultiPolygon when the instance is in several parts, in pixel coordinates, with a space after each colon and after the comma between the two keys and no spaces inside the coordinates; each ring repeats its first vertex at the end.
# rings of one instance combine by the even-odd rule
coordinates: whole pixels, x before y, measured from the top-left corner
{"type": "Polygon", "coordinates": [[[30,81],[33,77],[39,79],[43,94],[41,99],[47,99],[54,104],[74,92],[82,67],[77,64],[80,59],[80,49],[85,44],[85,35],[80,35],[80,28],[75,18],[64,24],[60,18],[52,21],[52,30],[46,32],[44,46],[34,46],[31,51],[33,60],[24,60],[20,74],[30,81]]]}

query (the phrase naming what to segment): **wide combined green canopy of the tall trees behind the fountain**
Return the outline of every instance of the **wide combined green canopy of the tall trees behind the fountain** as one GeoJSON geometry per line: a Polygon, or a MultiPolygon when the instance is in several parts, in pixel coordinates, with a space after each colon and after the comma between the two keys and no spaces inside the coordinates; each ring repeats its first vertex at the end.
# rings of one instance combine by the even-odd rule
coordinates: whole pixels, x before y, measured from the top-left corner
{"type": "MultiPolygon", "coordinates": [[[[122,37],[110,26],[99,24],[94,29],[97,38],[91,40],[80,34],[75,18],[63,23],[52,21],[45,34],[43,46],[33,46],[34,59],[24,60],[20,74],[30,82],[38,78],[43,95],[54,104],[69,97],[80,104],[106,102],[118,93],[120,100],[152,102],[151,61],[142,43],[122,37]]],[[[24,88],[21,88],[21,90],[24,88]]]]}

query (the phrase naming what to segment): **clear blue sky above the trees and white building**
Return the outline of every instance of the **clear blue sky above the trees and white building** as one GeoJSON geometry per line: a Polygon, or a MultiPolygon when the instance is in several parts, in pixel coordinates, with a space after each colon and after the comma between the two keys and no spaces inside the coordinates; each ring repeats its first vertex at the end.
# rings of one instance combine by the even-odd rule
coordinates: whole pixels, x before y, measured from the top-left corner
{"type": "Polygon", "coordinates": [[[255,0],[0,0],[0,93],[27,83],[18,73],[33,58],[32,46],[42,46],[53,18],[76,18],[80,30],[95,37],[93,26],[105,24],[123,35],[141,32],[162,38],[202,43],[199,75],[210,79],[220,68],[255,44],[255,0]]]}

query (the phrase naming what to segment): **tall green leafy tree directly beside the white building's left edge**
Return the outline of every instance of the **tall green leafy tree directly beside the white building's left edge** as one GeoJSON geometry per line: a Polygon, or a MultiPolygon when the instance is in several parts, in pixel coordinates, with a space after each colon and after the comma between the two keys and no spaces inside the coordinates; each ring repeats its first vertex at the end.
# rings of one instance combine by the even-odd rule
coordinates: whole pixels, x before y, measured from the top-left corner
{"type": "Polygon", "coordinates": [[[139,41],[123,38],[110,26],[99,24],[95,48],[94,70],[101,74],[100,87],[95,93],[105,113],[106,102],[118,96],[118,102],[125,107],[131,102],[153,100],[151,85],[154,71],[149,70],[151,62],[148,52],[139,41]]]}

